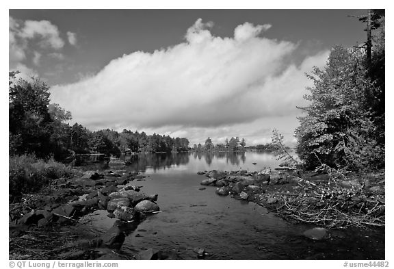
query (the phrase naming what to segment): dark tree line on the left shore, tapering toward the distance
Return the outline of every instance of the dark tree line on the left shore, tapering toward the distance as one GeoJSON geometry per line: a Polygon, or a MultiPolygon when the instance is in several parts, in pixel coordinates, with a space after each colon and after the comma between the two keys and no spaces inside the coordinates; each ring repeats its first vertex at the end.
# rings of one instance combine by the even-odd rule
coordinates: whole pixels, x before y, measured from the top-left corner
{"type": "Polygon", "coordinates": [[[49,86],[33,77],[31,81],[16,79],[9,73],[9,152],[10,155],[53,155],[61,160],[73,153],[118,154],[127,152],[187,151],[187,138],[171,138],[144,131],[122,132],[103,129],[90,131],[75,123],[71,113],[50,103],[49,86]]]}

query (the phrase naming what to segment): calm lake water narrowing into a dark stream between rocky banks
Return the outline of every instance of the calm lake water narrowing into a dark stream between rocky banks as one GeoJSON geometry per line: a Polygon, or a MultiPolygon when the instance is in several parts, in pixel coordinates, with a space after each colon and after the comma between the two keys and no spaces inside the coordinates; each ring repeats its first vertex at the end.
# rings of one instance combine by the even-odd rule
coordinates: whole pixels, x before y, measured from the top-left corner
{"type": "MultiPolygon", "coordinates": [[[[206,259],[384,259],[384,231],[347,229],[332,238],[312,242],[302,236],[307,225],[292,225],[254,203],[218,196],[214,187],[198,190],[205,177],[199,170],[261,170],[276,167],[270,154],[176,153],[122,156],[131,162],[128,171],[142,171],[147,194],[159,194],[159,214],[148,216],[137,227],[130,224],[122,251],[132,255],[146,248],[176,253],[178,259],[196,259],[193,248],[205,248],[206,259]],[[256,163],[256,164],[253,164],[256,163]]],[[[97,164],[94,166],[98,168],[97,164]]],[[[105,168],[101,164],[101,168],[105,168]]],[[[107,212],[94,212],[86,234],[107,231],[116,220],[107,212]]]]}

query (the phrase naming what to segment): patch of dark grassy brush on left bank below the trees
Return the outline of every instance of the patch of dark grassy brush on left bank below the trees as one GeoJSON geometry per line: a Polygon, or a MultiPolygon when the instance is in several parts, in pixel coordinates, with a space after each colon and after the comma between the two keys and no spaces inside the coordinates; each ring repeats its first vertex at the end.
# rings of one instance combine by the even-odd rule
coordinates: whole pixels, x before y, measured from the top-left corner
{"type": "Polygon", "coordinates": [[[12,156],[9,164],[10,198],[37,192],[53,179],[73,175],[73,168],[55,162],[53,158],[44,160],[34,155],[12,156]]]}

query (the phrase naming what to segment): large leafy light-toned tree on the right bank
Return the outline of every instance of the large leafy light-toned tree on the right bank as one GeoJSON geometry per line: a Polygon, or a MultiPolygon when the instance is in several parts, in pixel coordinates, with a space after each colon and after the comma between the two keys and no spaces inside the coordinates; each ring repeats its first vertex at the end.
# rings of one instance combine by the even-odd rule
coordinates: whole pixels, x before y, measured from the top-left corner
{"type": "Polygon", "coordinates": [[[374,137],[376,126],[366,92],[373,90],[367,78],[360,51],[334,47],[323,70],[315,68],[310,103],[302,110],[296,129],[297,152],[306,168],[361,169],[378,167],[384,159],[384,149],[374,137]]]}

